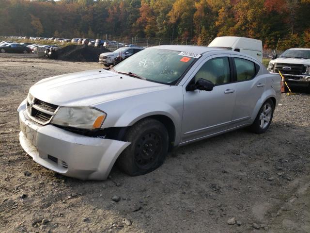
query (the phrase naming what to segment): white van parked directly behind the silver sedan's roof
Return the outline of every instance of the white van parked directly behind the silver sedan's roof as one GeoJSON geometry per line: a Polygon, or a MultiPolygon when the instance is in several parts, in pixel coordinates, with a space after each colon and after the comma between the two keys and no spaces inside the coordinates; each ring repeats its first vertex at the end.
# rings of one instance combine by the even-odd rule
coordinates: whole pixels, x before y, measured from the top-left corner
{"type": "Polygon", "coordinates": [[[237,51],[263,62],[263,43],[261,40],[238,36],[220,36],[215,38],[208,47],[237,51]]]}

